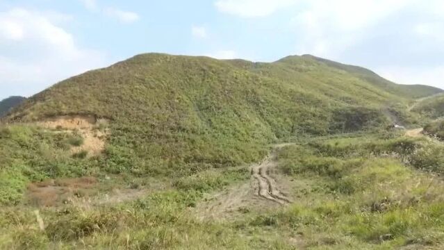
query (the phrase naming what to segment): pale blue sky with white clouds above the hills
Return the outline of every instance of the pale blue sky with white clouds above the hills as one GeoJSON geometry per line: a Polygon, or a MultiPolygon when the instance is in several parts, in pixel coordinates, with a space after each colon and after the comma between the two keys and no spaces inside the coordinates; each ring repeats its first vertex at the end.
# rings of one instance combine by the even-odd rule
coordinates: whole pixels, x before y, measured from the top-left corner
{"type": "Polygon", "coordinates": [[[442,0],[0,0],[0,99],[139,53],[310,53],[444,88],[442,0]]]}

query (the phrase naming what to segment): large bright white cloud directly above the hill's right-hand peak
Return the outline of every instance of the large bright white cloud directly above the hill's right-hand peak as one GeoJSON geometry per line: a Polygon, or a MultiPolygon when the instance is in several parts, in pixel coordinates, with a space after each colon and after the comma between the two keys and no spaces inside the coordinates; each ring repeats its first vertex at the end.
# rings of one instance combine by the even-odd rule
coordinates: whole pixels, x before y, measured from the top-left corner
{"type": "Polygon", "coordinates": [[[299,1],[292,23],[301,39],[297,53],[336,58],[368,38],[368,28],[407,6],[411,0],[299,1]]]}

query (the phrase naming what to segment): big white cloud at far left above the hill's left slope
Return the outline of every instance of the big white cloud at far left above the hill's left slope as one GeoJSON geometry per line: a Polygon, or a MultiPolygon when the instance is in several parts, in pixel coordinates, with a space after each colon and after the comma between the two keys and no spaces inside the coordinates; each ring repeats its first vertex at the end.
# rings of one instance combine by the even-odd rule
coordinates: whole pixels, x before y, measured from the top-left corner
{"type": "Polygon", "coordinates": [[[22,8],[0,12],[0,27],[1,94],[14,94],[8,90],[33,94],[106,64],[103,54],[79,47],[71,33],[42,12],[22,8]]]}

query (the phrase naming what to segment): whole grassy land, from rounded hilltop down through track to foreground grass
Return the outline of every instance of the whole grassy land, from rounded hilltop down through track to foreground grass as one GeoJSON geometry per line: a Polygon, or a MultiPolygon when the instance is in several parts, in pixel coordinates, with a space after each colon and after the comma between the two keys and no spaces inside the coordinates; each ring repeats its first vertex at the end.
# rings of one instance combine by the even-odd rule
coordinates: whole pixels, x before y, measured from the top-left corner
{"type": "Polygon", "coordinates": [[[444,147],[387,86],[159,53],[57,83],[1,119],[0,249],[442,249],[444,147]]]}

